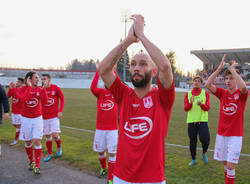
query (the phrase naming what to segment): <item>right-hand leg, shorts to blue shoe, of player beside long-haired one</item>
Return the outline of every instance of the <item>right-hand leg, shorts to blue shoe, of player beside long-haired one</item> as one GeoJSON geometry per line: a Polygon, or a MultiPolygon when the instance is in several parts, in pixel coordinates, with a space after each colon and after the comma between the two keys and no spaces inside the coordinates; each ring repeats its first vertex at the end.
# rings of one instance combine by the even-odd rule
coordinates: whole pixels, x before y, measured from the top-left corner
{"type": "Polygon", "coordinates": [[[61,137],[59,136],[59,134],[61,133],[60,121],[58,118],[53,118],[50,121],[51,121],[52,137],[55,140],[56,145],[57,145],[57,156],[61,157],[62,156],[62,141],[61,141],[61,137]]]}

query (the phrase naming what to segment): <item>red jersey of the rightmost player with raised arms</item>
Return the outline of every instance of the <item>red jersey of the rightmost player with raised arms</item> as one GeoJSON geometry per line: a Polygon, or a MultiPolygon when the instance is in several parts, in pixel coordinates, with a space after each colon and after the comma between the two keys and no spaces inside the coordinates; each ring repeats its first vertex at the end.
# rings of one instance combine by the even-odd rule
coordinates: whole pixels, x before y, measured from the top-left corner
{"type": "Polygon", "coordinates": [[[237,89],[233,94],[216,87],[214,94],[220,100],[220,117],[217,133],[222,136],[243,136],[244,111],[248,92],[242,94],[237,89]]]}

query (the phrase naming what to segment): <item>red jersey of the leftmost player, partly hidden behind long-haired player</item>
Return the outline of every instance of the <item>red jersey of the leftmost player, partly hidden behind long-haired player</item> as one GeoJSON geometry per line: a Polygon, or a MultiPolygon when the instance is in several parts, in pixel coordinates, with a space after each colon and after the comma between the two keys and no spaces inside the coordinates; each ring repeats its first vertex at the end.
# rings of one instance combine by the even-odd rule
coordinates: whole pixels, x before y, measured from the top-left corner
{"type": "Polygon", "coordinates": [[[17,92],[16,91],[20,91],[21,88],[16,88],[16,90],[14,89],[9,89],[8,90],[8,98],[12,97],[12,113],[14,114],[21,114],[22,109],[23,109],[23,103],[21,102],[21,100],[17,97],[17,92]]]}

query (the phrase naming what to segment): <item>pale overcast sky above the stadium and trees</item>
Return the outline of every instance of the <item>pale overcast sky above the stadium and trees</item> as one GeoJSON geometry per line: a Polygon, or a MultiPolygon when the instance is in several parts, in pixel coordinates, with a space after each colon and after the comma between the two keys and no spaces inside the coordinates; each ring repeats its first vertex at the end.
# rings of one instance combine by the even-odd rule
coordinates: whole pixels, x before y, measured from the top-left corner
{"type": "Polygon", "coordinates": [[[248,0],[0,0],[0,67],[102,60],[124,38],[129,10],[144,15],[145,34],[163,53],[175,51],[180,68],[194,71],[202,63],[191,50],[250,47],[249,7],[248,0]]]}

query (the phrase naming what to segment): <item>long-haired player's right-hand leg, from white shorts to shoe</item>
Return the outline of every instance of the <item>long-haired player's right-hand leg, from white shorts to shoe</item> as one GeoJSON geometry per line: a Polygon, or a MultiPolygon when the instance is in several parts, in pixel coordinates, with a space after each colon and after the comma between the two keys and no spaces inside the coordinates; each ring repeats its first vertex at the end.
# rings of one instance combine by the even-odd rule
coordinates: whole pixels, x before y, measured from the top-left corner
{"type": "Polygon", "coordinates": [[[42,137],[43,137],[43,120],[42,117],[32,119],[32,141],[35,149],[35,168],[34,173],[40,174],[40,161],[42,156],[42,137]]]}

